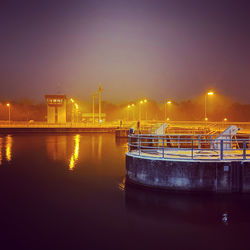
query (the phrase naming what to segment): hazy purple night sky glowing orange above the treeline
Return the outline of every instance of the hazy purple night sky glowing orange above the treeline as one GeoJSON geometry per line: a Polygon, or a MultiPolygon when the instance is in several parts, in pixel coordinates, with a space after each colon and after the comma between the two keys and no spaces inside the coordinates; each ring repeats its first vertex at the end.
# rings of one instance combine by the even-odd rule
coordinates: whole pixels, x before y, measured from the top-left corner
{"type": "Polygon", "coordinates": [[[0,99],[249,103],[249,0],[3,0],[0,32],[0,99]]]}

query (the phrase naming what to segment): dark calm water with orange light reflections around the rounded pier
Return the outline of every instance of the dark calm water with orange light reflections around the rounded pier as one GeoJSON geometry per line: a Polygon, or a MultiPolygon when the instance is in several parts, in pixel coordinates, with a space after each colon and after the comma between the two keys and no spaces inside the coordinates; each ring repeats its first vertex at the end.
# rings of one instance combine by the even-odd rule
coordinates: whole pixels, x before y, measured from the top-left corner
{"type": "Polygon", "coordinates": [[[124,185],[109,134],[0,135],[0,249],[250,249],[250,196],[124,185]]]}

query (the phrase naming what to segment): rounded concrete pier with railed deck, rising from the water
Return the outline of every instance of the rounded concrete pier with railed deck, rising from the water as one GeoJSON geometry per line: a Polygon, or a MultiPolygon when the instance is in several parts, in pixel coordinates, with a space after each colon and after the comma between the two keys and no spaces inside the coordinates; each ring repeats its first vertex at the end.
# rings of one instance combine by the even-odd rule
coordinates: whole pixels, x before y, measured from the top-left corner
{"type": "Polygon", "coordinates": [[[237,139],[131,134],[128,139],[128,182],[171,191],[250,193],[249,134],[237,139]]]}

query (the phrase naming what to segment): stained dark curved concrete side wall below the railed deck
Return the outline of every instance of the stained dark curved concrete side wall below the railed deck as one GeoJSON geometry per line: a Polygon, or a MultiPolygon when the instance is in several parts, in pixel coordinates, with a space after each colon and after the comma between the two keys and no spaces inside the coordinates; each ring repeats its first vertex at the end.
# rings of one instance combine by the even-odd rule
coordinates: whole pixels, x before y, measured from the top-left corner
{"type": "Polygon", "coordinates": [[[198,162],[126,155],[127,178],[173,191],[250,193],[250,162],[198,162]]]}

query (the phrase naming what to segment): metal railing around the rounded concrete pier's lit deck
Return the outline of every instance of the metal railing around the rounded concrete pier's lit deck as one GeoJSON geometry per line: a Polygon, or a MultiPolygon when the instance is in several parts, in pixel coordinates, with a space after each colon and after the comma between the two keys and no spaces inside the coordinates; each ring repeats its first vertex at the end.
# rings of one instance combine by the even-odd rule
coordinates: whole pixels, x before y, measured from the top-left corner
{"type": "Polygon", "coordinates": [[[241,135],[243,139],[216,139],[217,136],[130,134],[128,153],[178,160],[250,160],[250,135],[241,135]]]}

